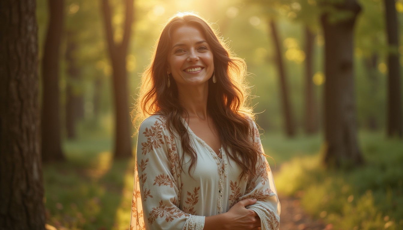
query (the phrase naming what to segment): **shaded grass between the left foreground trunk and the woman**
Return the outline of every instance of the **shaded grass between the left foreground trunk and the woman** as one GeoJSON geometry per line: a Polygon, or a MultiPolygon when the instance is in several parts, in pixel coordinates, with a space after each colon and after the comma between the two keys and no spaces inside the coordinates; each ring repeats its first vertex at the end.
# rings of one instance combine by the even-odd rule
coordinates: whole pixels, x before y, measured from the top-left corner
{"type": "Polygon", "coordinates": [[[48,229],[128,229],[134,158],[112,160],[105,139],[68,141],[64,149],[67,162],[44,166],[48,229]]]}

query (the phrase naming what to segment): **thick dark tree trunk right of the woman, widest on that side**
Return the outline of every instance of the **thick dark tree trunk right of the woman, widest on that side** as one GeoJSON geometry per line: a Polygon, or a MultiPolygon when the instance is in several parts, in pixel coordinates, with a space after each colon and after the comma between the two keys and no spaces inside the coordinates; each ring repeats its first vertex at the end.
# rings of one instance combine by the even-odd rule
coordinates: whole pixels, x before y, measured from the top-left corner
{"type": "Polygon", "coordinates": [[[324,163],[330,168],[363,163],[357,143],[353,76],[353,28],[361,7],[355,0],[337,5],[353,16],[337,23],[322,15],[325,39],[324,163]]]}

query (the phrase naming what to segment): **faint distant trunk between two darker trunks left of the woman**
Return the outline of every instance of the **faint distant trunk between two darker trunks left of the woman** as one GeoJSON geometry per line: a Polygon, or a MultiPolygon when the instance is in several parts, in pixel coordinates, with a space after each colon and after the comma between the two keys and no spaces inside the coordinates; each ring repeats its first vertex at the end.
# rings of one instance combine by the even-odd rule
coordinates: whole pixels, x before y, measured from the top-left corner
{"type": "Polygon", "coordinates": [[[81,118],[83,110],[83,96],[80,84],[80,70],[77,66],[75,52],[77,42],[75,41],[75,32],[67,33],[66,44],[66,62],[67,62],[67,86],[66,86],[66,131],[67,138],[76,137],[75,125],[81,118]]]}

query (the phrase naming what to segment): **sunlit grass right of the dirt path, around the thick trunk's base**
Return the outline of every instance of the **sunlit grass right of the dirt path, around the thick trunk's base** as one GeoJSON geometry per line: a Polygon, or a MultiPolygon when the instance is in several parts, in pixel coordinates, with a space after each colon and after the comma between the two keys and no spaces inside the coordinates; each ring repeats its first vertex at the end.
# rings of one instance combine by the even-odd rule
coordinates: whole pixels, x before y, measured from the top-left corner
{"type": "Polygon", "coordinates": [[[327,171],[320,154],[295,157],[275,175],[279,193],[301,197],[304,209],[335,229],[403,228],[403,143],[362,133],[366,166],[327,171]]]}

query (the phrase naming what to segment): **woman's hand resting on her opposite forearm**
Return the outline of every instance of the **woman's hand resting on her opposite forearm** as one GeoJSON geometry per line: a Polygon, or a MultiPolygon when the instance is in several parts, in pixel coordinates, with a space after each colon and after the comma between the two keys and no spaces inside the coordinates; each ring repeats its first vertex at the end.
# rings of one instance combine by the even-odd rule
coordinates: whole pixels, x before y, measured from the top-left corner
{"type": "Polygon", "coordinates": [[[256,199],[244,199],[236,203],[228,212],[223,213],[229,220],[229,228],[233,230],[258,230],[260,218],[255,211],[245,208],[256,203],[256,199]]]}

